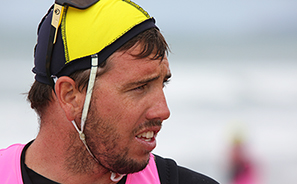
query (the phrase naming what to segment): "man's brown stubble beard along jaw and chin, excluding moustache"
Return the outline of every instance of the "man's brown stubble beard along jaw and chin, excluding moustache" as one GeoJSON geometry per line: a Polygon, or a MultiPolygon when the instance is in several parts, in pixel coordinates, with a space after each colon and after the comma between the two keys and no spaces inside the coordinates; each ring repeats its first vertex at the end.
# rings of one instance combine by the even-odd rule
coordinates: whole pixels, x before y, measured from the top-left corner
{"type": "MultiPolygon", "coordinates": [[[[149,162],[149,157],[142,162],[129,157],[130,149],[119,144],[122,137],[117,134],[117,127],[113,122],[113,120],[101,119],[98,111],[90,108],[89,118],[86,122],[86,141],[99,164],[105,169],[119,174],[143,170],[149,162]]],[[[149,155],[149,152],[147,154],[149,155]]]]}

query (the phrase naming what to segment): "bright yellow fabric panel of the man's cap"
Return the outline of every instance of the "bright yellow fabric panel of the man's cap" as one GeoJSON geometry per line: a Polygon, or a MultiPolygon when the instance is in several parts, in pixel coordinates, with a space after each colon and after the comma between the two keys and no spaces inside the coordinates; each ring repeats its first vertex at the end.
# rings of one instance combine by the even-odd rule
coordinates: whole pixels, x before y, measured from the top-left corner
{"type": "Polygon", "coordinates": [[[68,7],[61,25],[66,63],[100,52],[149,18],[129,0],[99,0],[85,10],[68,7]]]}

